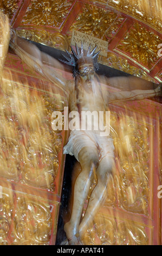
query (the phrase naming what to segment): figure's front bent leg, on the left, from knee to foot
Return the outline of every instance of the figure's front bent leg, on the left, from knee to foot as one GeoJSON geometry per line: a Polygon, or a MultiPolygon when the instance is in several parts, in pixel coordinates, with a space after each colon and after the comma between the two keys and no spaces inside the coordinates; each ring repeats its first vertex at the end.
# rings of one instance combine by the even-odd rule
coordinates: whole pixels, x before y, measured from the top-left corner
{"type": "Polygon", "coordinates": [[[75,181],[72,215],[70,221],[64,225],[64,231],[66,232],[69,245],[78,245],[80,242],[80,218],[94,177],[93,174],[96,167],[98,167],[98,150],[92,147],[84,147],[80,150],[78,159],[82,171],[75,181]]]}

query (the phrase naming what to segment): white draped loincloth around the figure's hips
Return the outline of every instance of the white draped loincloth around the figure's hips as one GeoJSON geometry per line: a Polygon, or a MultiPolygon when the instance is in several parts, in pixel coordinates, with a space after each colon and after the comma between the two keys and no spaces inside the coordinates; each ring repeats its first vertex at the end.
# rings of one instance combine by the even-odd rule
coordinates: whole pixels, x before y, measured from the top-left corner
{"type": "Polygon", "coordinates": [[[78,154],[84,147],[97,148],[99,151],[99,161],[105,156],[114,157],[113,139],[100,136],[93,131],[73,130],[70,133],[68,143],[63,148],[63,154],[74,155],[78,160],[78,154]]]}

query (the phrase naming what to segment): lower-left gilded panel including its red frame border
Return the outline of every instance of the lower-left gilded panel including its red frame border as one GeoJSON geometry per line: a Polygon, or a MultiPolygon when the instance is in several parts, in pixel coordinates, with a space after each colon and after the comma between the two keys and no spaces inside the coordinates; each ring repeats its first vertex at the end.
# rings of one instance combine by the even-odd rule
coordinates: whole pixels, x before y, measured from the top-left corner
{"type": "Polygon", "coordinates": [[[16,187],[7,181],[0,198],[0,245],[49,245],[56,235],[57,207],[48,195],[16,187]],[[34,193],[32,195],[32,193],[34,193]]]}

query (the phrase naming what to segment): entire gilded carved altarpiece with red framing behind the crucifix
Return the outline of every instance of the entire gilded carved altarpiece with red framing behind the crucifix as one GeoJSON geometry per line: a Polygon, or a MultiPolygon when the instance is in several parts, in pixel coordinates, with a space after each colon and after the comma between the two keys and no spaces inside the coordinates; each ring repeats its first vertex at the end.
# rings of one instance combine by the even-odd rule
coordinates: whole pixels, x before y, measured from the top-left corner
{"type": "MultiPolygon", "coordinates": [[[[162,20],[139,10],[137,0],[3,0],[0,9],[9,15],[11,26],[19,36],[70,51],[75,29],[108,41],[107,57],[99,56],[100,64],[155,83],[162,81],[162,60],[157,54],[162,20]]],[[[1,129],[0,141],[0,185],[3,187],[0,243],[55,244],[64,170],[62,148],[67,135],[64,131],[51,131],[50,117],[54,109],[62,111],[67,104],[66,97],[63,92],[61,96],[51,92],[51,84],[12,53],[5,63],[4,74],[8,73],[13,79],[18,75],[20,83],[16,86],[12,83],[8,92],[4,78],[0,95],[1,123],[2,127],[5,123],[8,127],[7,131],[1,129]],[[28,130],[17,125],[22,124],[24,117],[14,113],[13,118],[10,111],[10,93],[15,90],[20,97],[23,92],[30,95],[33,99],[30,107],[36,104],[42,109],[41,117],[36,110],[33,112],[44,127],[39,132],[33,129],[35,124],[30,124],[28,130]],[[32,159],[33,150],[35,159],[32,159]],[[7,166],[4,160],[8,160],[7,166]]],[[[68,72],[65,75],[67,79],[72,78],[68,72]]],[[[116,174],[108,188],[106,203],[83,241],[86,245],[159,245],[161,104],[142,100],[110,108],[116,174]]],[[[30,123],[30,118],[27,121],[30,123]]],[[[85,209],[86,206],[87,201],[85,209]]]]}

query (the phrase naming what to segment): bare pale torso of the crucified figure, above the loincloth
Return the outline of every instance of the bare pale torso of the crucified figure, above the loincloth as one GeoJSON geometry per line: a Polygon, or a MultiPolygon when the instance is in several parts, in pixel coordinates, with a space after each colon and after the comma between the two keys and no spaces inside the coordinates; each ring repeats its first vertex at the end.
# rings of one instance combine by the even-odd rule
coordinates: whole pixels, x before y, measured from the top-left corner
{"type": "MultiPolygon", "coordinates": [[[[105,113],[108,111],[108,105],[104,100],[99,78],[95,74],[75,78],[75,84],[73,84],[69,95],[69,110],[79,113],[80,124],[86,122],[89,125],[92,121],[92,130],[95,130],[95,133],[100,131],[102,123],[105,124],[105,113]],[[91,120],[83,114],[87,111],[94,114],[91,120]]],[[[86,127],[91,127],[91,124],[90,126],[86,125],[86,127]]]]}

